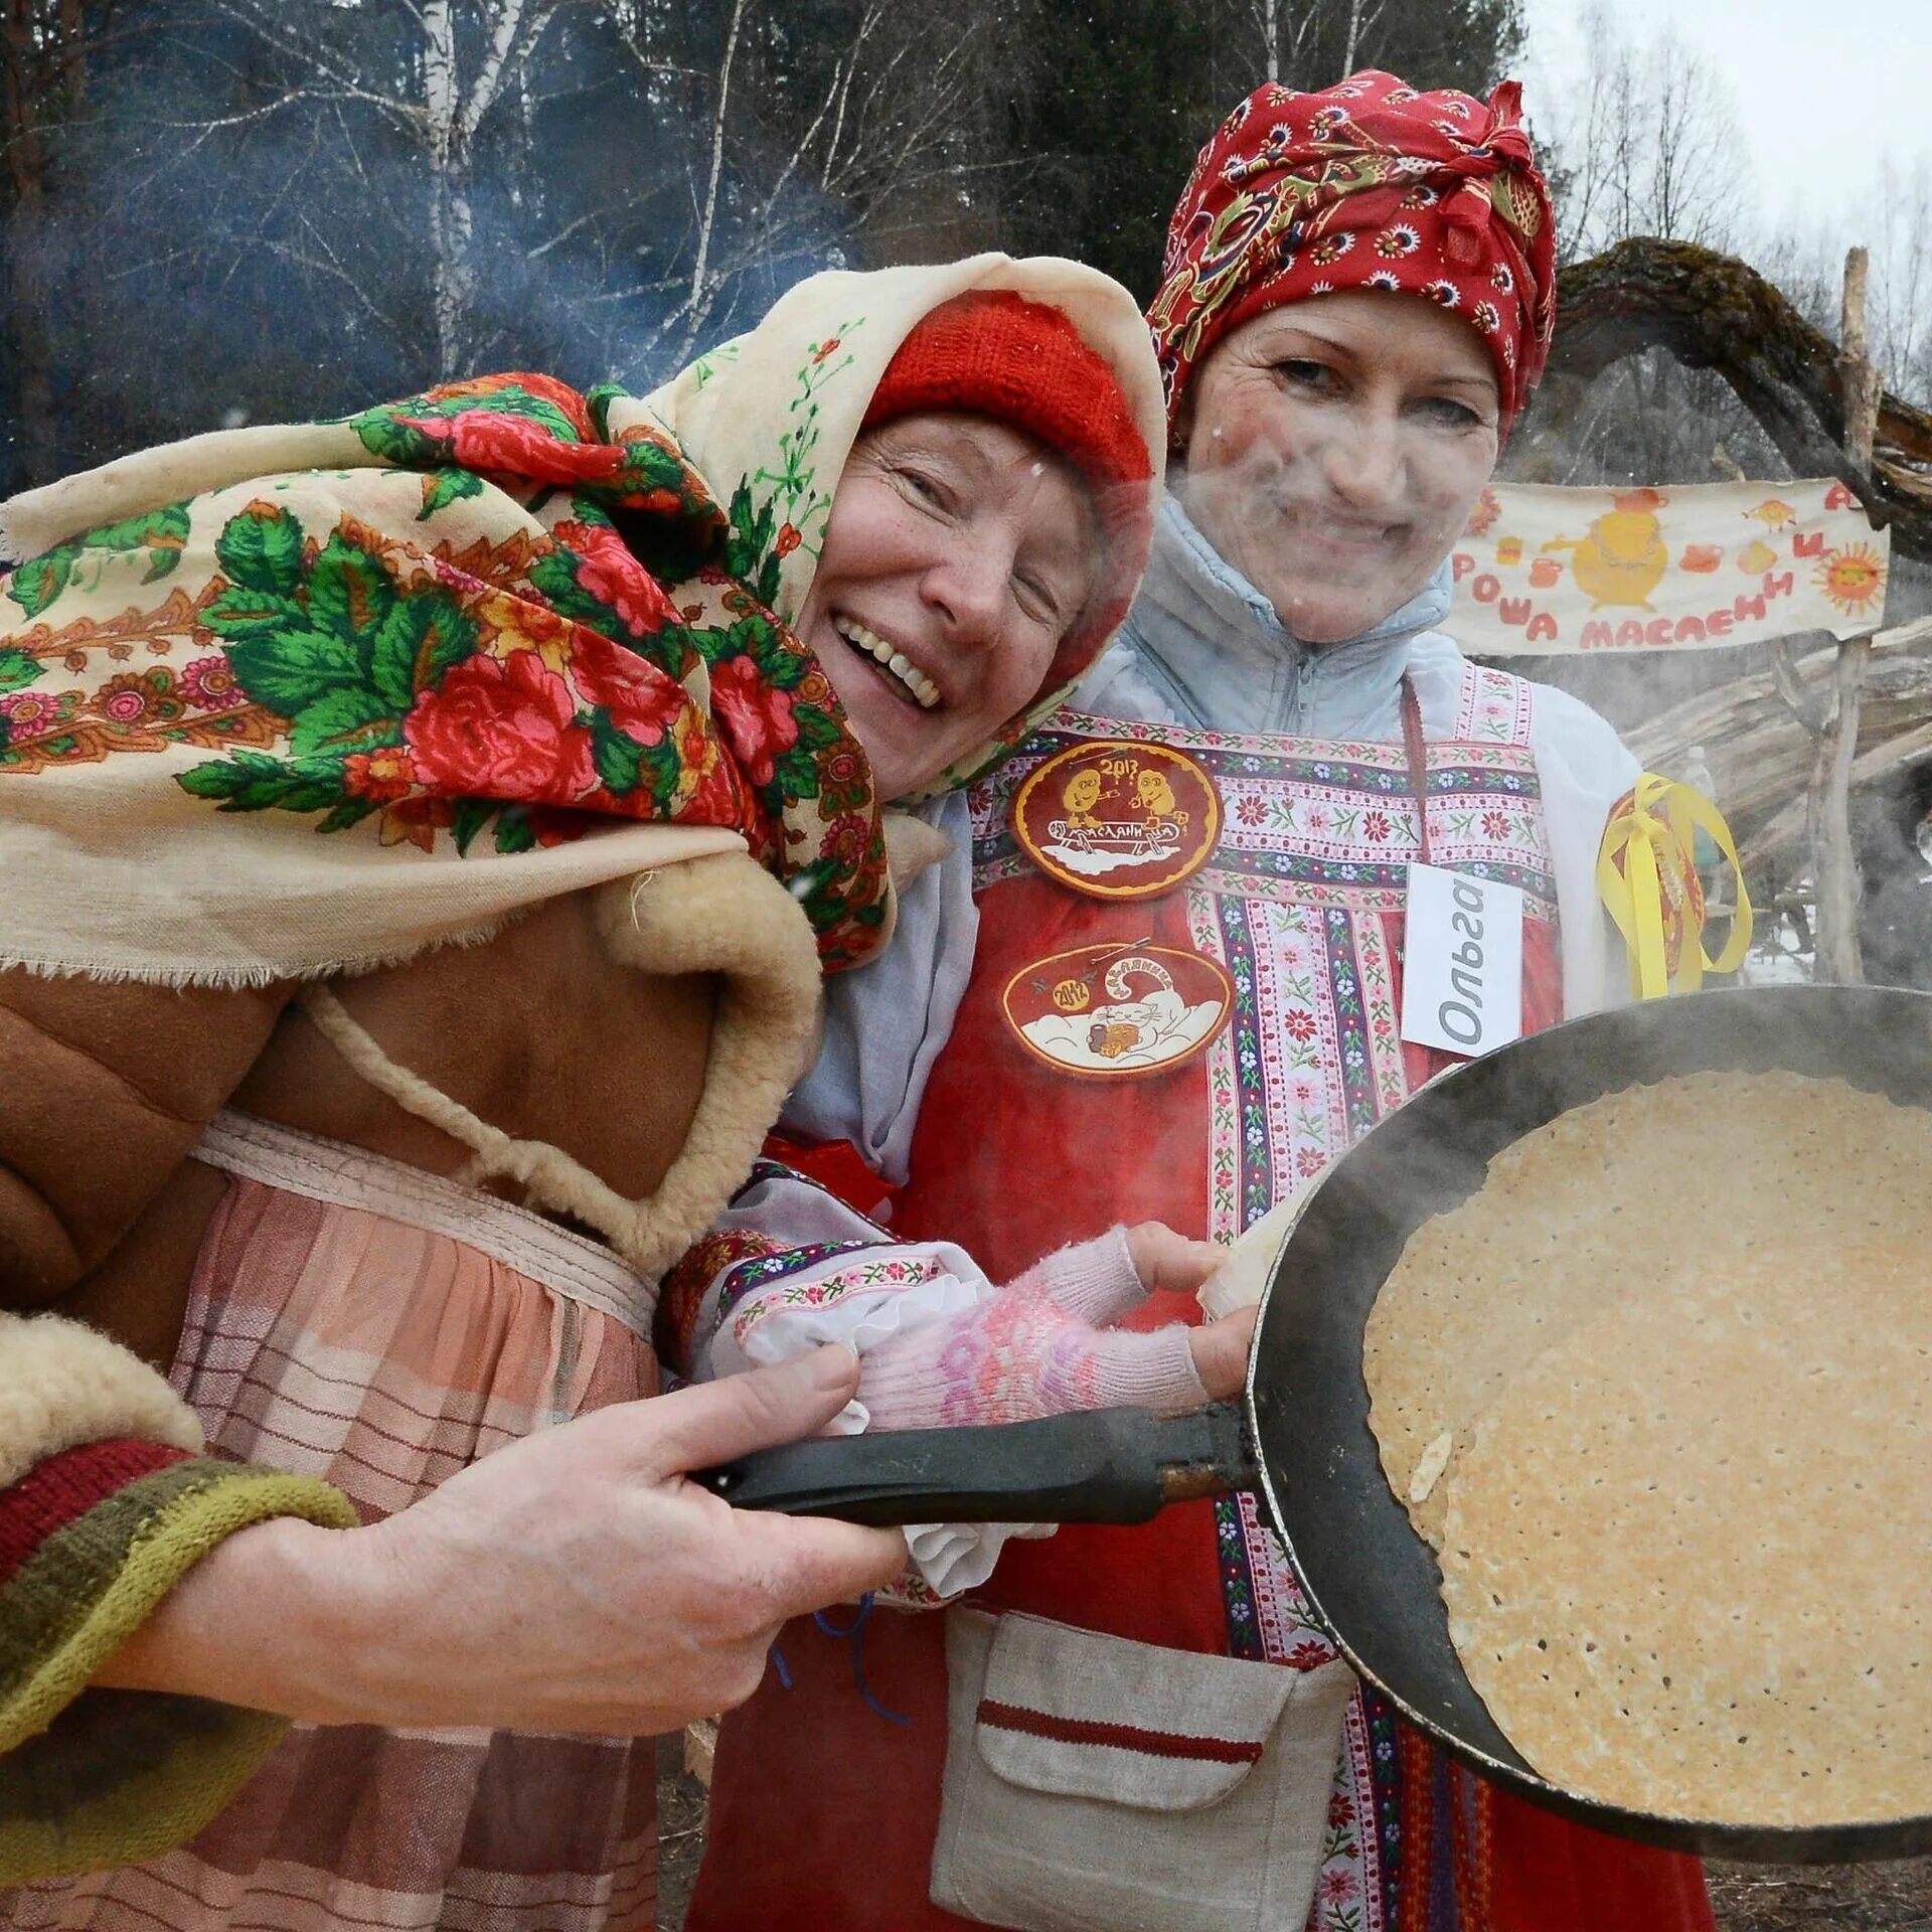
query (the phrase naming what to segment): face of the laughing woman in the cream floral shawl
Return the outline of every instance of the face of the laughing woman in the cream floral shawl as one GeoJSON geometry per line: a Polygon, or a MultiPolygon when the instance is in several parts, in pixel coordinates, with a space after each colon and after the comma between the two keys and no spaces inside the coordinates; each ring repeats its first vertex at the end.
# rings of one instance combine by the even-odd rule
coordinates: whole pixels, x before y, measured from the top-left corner
{"type": "Polygon", "coordinates": [[[1026,705],[1094,593],[1086,485],[981,415],[867,429],[846,458],[798,636],[900,798],[1026,705]]]}

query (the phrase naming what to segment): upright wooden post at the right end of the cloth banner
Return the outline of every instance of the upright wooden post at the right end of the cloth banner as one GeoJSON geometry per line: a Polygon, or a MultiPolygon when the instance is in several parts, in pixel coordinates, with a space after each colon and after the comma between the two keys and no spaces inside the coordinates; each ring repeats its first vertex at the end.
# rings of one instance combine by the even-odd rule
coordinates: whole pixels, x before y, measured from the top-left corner
{"type": "MultiPolygon", "coordinates": [[[[1880,384],[1864,352],[1864,276],[1866,253],[1855,247],[1845,255],[1839,379],[1845,394],[1845,452],[1861,475],[1870,477],[1880,384]]],[[[1820,980],[1839,985],[1864,983],[1864,960],[1859,952],[1859,860],[1851,850],[1851,765],[1859,755],[1859,707],[1870,659],[1870,638],[1849,638],[1837,647],[1832,715],[1818,734],[1804,810],[1818,900],[1814,970],[1820,980]]]]}

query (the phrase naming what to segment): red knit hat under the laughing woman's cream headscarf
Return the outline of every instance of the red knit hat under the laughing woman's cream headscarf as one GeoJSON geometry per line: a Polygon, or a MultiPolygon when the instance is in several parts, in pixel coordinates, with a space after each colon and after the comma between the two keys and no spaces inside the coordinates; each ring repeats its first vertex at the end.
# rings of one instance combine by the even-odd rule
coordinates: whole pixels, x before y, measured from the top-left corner
{"type": "Polygon", "coordinates": [[[1066,684],[1126,616],[1153,539],[1153,462],[1113,369],[1061,309],[1010,288],[978,288],[943,301],[906,336],[860,429],[918,410],[966,410],[1010,423],[1086,479],[1105,560],[1041,690],[1066,684]]]}

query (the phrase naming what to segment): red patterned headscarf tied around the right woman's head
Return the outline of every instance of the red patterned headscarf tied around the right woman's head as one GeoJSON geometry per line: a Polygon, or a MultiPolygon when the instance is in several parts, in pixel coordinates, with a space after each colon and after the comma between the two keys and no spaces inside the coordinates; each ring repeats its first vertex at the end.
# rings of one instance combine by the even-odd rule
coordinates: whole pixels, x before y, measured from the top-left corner
{"type": "Polygon", "coordinates": [[[1148,327],[1169,423],[1231,328],[1308,296],[1381,288],[1476,328],[1507,433],[1549,355],[1553,226],[1515,81],[1488,104],[1376,71],[1314,95],[1258,87],[1200,151],[1167,226],[1148,327]]]}

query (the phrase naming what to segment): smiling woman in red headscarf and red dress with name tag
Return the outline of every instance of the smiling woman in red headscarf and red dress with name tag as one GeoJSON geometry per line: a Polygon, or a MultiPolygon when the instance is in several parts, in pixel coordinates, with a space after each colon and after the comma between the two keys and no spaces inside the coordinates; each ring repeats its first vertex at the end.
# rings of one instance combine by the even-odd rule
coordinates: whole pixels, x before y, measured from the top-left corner
{"type": "MultiPolygon", "coordinates": [[[[866,1009],[873,1037],[951,1028],[908,1103],[908,1262],[958,1242],[1005,1279],[1109,1221],[1231,1240],[1291,1200],[1445,1065],[1397,1018],[1418,860],[1520,904],[1524,1030],[1604,1003],[1594,871],[1636,759],[1432,630],[1551,278],[1515,85],[1264,87],[1202,151],[1150,311],[1171,466],[1142,593],[972,788],[972,908],[920,1024],[866,1009]]],[[[929,1420],[885,1374],[914,1345],[862,1360],[875,1422],[929,1420]]],[[[1710,1926],[1694,1861],[1497,1793],[1356,1687],[1252,1501],[1009,1542],[945,1617],[871,1617],[858,1683],[852,1650],[794,1625],[790,1687],[726,1723],[692,1932],[1710,1926]]]]}

